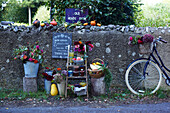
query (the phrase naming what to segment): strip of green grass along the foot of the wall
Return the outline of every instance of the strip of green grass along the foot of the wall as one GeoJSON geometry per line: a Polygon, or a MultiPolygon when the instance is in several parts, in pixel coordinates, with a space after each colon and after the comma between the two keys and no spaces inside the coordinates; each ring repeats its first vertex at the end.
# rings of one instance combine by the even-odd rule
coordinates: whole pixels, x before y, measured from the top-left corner
{"type": "MultiPolygon", "coordinates": [[[[36,98],[36,99],[48,99],[50,95],[47,95],[44,91],[38,91],[38,92],[23,92],[22,90],[14,90],[14,89],[2,89],[0,88],[0,99],[17,99],[17,100],[24,100],[26,98],[36,98]]],[[[76,98],[77,96],[71,96],[71,99],[76,98]]],[[[134,95],[132,94],[128,89],[126,88],[115,88],[115,91],[110,93],[109,95],[100,95],[100,96],[91,96],[90,100],[93,101],[126,101],[128,99],[142,99],[142,98],[169,98],[169,90],[164,91],[159,89],[156,93],[149,95],[134,95]]],[[[59,96],[55,96],[55,100],[60,100],[61,98],[59,96]]],[[[78,96],[78,101],[85,101],[86,96],[78,96]]]]}

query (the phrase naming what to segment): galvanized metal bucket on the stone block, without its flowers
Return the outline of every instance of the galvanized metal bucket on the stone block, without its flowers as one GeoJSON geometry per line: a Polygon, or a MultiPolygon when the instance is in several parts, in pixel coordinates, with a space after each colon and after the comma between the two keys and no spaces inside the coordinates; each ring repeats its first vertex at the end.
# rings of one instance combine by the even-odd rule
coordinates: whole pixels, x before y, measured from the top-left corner
{"type": "Polygon", "coordinates": [[[24,64],[25,77],[37,77],[39,63],[26,62],[24,64]]]}

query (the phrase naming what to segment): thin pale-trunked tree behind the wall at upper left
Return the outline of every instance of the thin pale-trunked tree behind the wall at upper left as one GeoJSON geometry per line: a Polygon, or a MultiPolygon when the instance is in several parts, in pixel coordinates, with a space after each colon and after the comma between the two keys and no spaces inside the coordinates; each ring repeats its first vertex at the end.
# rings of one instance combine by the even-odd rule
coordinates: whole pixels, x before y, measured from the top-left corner
{"type": "Polygon", "coordinates": [[[43,3],[43,2],[47,2],[47,0],[23,0],[21,1],[22,6],[23,7],[27,7],[28,8],[28,14],[29,14],[29,25],[31,25],[31,8],[36,7],[36,4],[39,3],[43,3]]]}

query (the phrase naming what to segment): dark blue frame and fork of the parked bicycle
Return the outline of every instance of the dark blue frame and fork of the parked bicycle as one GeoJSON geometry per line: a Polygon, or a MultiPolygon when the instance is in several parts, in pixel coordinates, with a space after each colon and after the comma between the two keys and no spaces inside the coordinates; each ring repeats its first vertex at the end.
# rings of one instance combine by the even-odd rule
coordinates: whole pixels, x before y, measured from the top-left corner
{"type": "Polygon", "coordinates": [[[147,68],[147,65],[149,64],[149,61],[154,61],[158,66],[159,66],[159,68],[161,69],[161,71],[164,73],[164,75],[166,76],[166,78],[168,79],[168,80],[170,80],[170,77],[168,76],[168,74],[166,73],[166,71],[168,71],[168,72],[170,72],[170,69],[168,69],[165,65],[164,65],[164,63],[163,63],[163,61],[162,61],[162,59],[161,59],[161,57],[159,56],[159,54],[158,54],[158,51],[156,50],[156,46],[154,45],[153,46],[153,50],[152,50],[152,52],[150,53],[150,55],[149,55],[149,57],[148,57],[148,62],[145,64],[145,67],[144,67],[144,77],[145,77],[145,71],[146,71],[146,68],[147,68]],[[158,57],[158,60],[157,60],[157,58],[154,56],[154,52],[156,53],[156,55],[157,55],[157,57],[158,57]],[[153,60],[152,60],[152,59],[153,60]],[[165,71],[165,70],[166,71],[165,71]]]}

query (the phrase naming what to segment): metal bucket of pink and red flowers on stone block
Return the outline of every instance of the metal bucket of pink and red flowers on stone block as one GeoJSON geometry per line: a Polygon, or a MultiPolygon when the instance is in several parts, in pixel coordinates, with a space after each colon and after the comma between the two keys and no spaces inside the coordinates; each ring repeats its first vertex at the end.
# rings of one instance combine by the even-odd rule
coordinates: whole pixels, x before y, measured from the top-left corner
{"type": "Polygon", "coordinates": [[[27,43],[13,50],[14,59],[21,59],[24,64],[25,77],[37,77],[39,64],[43,61],[44,52],[38,42],[27,43]]]}

